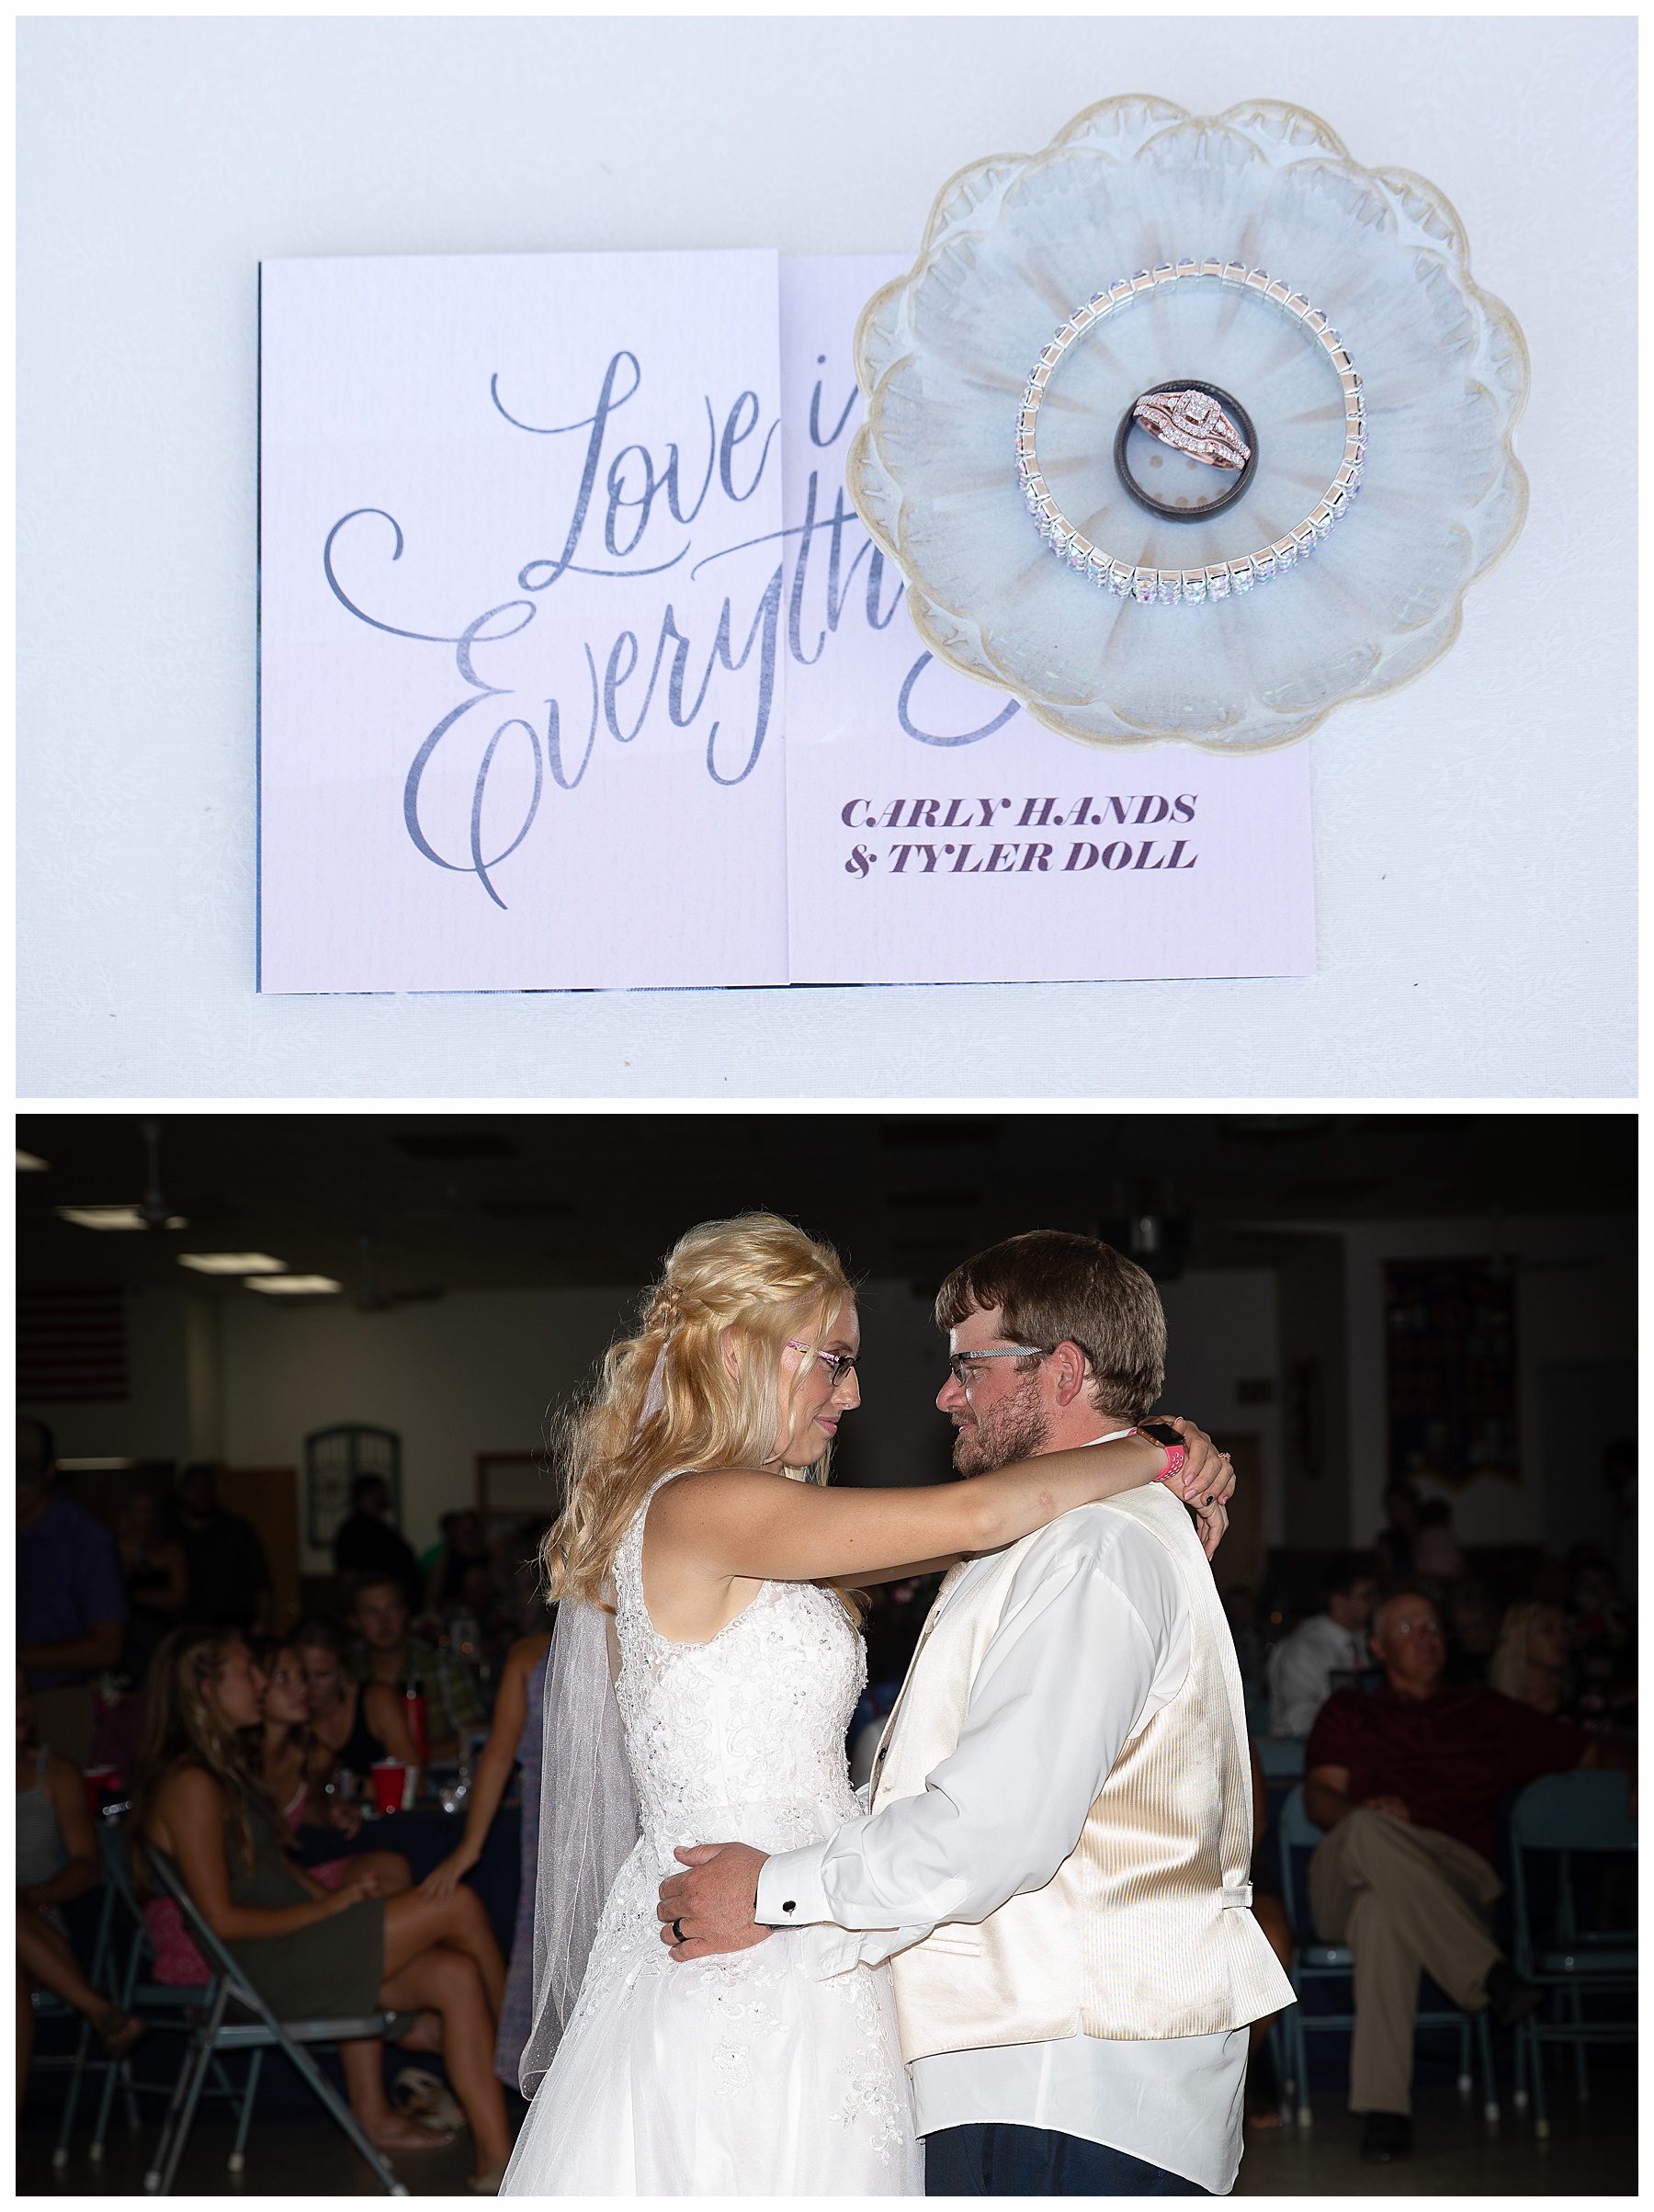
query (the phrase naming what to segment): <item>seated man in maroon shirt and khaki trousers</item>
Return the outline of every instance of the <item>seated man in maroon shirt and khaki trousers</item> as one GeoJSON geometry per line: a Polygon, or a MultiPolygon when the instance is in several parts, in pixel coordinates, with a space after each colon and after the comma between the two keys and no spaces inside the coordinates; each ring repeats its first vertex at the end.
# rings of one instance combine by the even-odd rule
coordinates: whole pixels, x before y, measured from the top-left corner
{"type": "Polygon", "coordinates": [[[1413,2148],[1420,1969],[1501,2028],[1543,1995],[1488,1933],[1501,1796],[1570,1767],[1630,1767],[1634,1745],[1583,1736],[1495,1690],[1448,1690],[1442,1624],[1422,1590],[1380,1604],[1371,1644],[1384,1681],[1371,1697],[1327,1699],[1305,1750],[1305,1812],[1327,1829],[1309,1863],[1316,1933],[1355,1953],[1349,2108],[1367,2115],[1362,2157],[1382,2166],[1413,2148]]]}

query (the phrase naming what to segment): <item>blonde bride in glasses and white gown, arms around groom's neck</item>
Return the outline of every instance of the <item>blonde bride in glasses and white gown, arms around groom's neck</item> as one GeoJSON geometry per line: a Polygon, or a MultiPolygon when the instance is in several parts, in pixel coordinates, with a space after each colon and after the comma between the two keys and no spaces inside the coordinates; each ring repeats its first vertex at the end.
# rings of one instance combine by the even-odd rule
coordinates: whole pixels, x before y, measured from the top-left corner
{"type": "MultiPolygon", "coordinates": [[[[933,1489],[831,1491],[858,1343],[836,1252],[774,1214],[712,1221],[573,1422],[546,1540],[533,2104],[506,2197],[924,2192],[889,1969],[823,1975],[818,1929],[679,1964],[657,1889],[674,1845],[789,1851],[858,1812],[856,1584],[997,1551],[1168,1455],[1130,1436],[933,1489]]],[[[1232,1480],[1179,1427],[1216,1542],[1232,1480]]]]}

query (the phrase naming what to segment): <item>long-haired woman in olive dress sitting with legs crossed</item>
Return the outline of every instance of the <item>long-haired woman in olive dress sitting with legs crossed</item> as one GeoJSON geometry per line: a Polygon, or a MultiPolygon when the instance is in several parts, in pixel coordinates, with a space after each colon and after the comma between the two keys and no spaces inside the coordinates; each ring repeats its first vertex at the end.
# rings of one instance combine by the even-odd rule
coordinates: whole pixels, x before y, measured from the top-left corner
{"type": "MultiPolygon", "coordinates": [[[[338,1889],[283,1849],[281,1807],[252,1774],[243,1730],[263,1719],[263,1679],[228,1630],[175,1628],[150,1674],[150,1734],[133,1794],[133,1860],[153,1887],[148,1851],[177,1860],[190,1898],[281,2020],[438,2013],[442,2059],[478,2148],[471,2188],[500,2188],[511,2135],[489,2057],[504,1964],[473,1891],[440,1905],[380,1893],[376,1869],[338,1889]]],[[[416,2026],[416,2024],[414,2024],[416,2026]]],[[[429,2044],[422,2044],[429,2048],[429,2044]]],[[[383,2046],[338,2046],[349,2104],[376,2143],[427,2150],[447,2141],[400,2119],[385,2099],[383,2046]]]]}

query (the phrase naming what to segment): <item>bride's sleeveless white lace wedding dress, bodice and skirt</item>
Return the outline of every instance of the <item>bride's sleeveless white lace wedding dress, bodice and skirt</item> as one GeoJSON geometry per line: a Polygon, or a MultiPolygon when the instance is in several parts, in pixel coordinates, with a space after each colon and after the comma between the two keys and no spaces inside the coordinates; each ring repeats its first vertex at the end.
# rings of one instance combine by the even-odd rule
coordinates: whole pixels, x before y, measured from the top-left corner
{"type": "Polygon", "coordinates": [[[502,2194],[920,2197],[889,1969],[823,1978],[814,1929],[679,1964],[655,1918],[674,1845],[789,1851],[860,1809],[845,1730],[862,1639],[831,1590],[765,1582],[710,1644],[670,1644],[643,1606],[646,1513],[615,1553],[641,1838],[502,2194]]]}

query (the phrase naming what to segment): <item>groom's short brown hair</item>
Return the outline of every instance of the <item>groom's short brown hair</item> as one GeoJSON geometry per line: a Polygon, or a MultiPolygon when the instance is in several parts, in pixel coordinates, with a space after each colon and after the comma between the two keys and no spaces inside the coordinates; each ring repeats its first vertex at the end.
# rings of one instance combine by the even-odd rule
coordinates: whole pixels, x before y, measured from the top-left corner
{"type": "Polygon", "coordinates": [[[935,1294],[935,1325],[999,1307],[1011,1343],[1079,1345],[1099,1413],[1141,1420],[1165,1383],[1165,1312],[1150,1276],[1097,1237],[1028,1230],[953,1270],[935,1294]]]}

